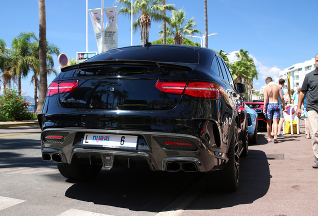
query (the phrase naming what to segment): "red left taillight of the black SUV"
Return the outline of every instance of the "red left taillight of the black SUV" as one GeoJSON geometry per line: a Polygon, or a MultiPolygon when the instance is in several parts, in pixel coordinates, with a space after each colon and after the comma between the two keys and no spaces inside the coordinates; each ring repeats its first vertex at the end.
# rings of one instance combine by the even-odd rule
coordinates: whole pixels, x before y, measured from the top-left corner
{"type": "Polygon", "coordinates": [[[47,88],[46,96],[52,96],[58,93],[68,93],[78,86],[77,80],[53,81],[47,88]]]}

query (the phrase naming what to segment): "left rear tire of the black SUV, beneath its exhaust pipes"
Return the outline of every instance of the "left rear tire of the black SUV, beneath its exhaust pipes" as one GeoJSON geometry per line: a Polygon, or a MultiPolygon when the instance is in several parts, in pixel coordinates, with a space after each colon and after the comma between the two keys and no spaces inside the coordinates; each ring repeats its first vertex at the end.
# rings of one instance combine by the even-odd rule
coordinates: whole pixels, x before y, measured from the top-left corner
{"type": "Polygon", "coordinates": [[[56,165],[61,175],[73,180],[91,180],[98,175],[101,169],[101,165],[87,163],[56,163],[56,165]]]}

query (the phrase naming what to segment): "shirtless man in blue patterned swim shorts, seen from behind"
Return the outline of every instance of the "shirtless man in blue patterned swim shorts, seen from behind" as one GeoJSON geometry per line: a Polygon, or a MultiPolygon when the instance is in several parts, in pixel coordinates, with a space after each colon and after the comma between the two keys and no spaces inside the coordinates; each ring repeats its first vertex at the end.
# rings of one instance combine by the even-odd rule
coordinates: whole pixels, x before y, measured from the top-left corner
{"type": "Polygon", "coordinates": [[[278,143],[277,140],[277,127],[278,127],[278,119],[280,118],[280,108],[278,104],[278,95],[281,98],[282,102],[282,111],[285,109],[285,101],[282,96],[280,87],[276,85],[271,77],[267,77],[265,79],[265,82],[267,84],[266,87],[264,87],[264,108],[263,113],[265,114],[266,120],[267,120],[267,134],[268,139],[267,141],[272,141],[270,138],[270,131],[271,131],[271,119],[273,121],[273,131],[274,131],[274,143],[278,143]]]}

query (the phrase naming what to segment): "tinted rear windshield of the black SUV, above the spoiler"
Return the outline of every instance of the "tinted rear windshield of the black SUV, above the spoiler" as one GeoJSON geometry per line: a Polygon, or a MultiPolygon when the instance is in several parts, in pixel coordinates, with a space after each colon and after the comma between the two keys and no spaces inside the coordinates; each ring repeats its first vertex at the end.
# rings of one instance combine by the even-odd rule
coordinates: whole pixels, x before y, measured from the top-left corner
{"type": "Polygon", "coordinates": [[[119,48],[95,55],[85,62],[97,60],[151,60],[159,62],[198,63],[195,48],[168,45],[119,48]]]}

